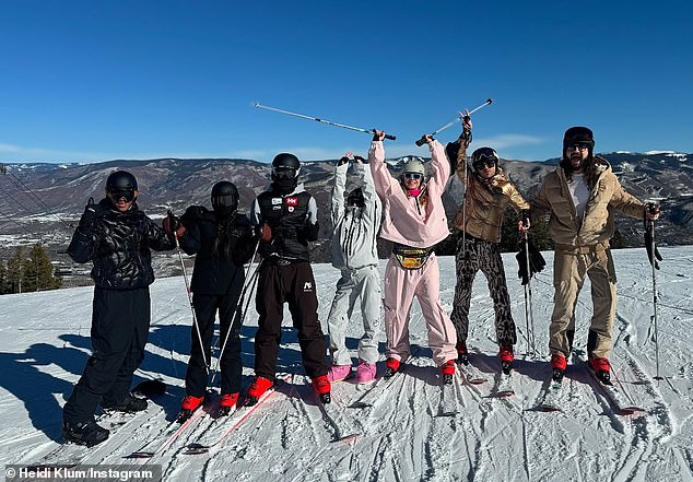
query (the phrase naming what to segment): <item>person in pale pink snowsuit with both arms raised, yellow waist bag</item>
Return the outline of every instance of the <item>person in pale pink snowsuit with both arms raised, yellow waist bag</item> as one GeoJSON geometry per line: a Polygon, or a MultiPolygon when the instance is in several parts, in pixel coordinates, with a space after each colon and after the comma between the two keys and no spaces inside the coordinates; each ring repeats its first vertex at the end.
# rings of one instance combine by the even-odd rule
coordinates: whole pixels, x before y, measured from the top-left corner
{"type": "Polygon", "coordinates": [[[431,177],[425,179],[422,160],[413,157],[396,178],[385,163],[385,132],[375,132],[368,162],[375,189],[383,199],[380,237],[394,243],[392,256],[385,269],[385,376],[397,373],[410,355],[409,311],[414,296],[426,321],[433,360],[444,376],[451,376],[457,357],[456,332],[441,304],[441,273],[433,251],[449,234],[442,195],[450,166],[443,145],[426,136],[432,156],[431,177]]]}

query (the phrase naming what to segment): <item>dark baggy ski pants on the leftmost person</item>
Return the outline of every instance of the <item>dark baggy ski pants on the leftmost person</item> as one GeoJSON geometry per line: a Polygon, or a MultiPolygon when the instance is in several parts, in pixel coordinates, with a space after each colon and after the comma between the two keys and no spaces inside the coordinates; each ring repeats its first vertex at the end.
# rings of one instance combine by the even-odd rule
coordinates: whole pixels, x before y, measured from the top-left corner
{"type": "Polygon", "coordinates": [[[125,399],[132,374],[144,358],[150,317],[149,287],[94,289],[92,355],[62,409],[66,422],[91,420],[102,400],[125,399]]]}

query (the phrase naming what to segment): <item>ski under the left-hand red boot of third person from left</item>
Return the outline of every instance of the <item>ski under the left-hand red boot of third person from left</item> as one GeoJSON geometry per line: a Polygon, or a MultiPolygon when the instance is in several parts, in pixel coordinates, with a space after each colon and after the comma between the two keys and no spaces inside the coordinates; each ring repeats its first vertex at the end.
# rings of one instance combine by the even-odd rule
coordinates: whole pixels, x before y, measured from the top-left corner
{"type": "Polygon", "coordinates": [[[238,403],[235,405],[234,411],[228,415],[222,415],[216,418],[211,426],[205,430],[198,438],[188,444],[186,449],[181,452],[184,455],[200,455],[208,454],[212,448],[221,446],[224,440],[243,424],[265,401],[267,401],[272,395],[277,392],[277,389],[287,383],[293,375],[285,375],[282,378],[277,378],[274,385],[272,385],[258,401],[252,405],[238,403]],[[220,434],[221,432],[221,434],[220,434]]]}

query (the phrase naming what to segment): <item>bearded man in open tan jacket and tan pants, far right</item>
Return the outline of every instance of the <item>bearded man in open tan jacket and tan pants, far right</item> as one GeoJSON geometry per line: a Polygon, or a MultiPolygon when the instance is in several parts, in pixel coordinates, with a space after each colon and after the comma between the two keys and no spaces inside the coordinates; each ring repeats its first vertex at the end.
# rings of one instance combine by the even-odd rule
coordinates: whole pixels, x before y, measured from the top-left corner
{"type": "Polygon", "coordinates": [[[656,220],[659,207],[644,204],[623,189],[607,160],[594,155],[595,139],[586,127],[563,137],[561,165],[544,178],[531,205],[531,218],[549,214],[553,258],[554,307],[549,329],[553,379],[561,380],[575,334],[575,305],[589,278],[594,313],[587,337],[589,365],[609,383],[609,355],[616,313],[616,274],[609,248],[613,212],[656,220]]]}

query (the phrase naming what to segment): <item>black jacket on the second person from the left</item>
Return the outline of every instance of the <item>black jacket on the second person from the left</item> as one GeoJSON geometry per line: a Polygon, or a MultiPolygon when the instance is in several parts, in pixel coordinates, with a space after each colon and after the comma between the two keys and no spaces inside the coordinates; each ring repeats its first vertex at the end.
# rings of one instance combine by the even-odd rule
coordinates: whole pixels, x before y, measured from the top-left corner
{"type": "Polygon", "coordinates": [[[234,213],[219,220],[213,211],[193,205],[180,222],[186,226],[180,247],[196,255],[190,290],[209,295],[239,293],[245,281],[243,264],[257,245],[248,218],[234,213]]]}

